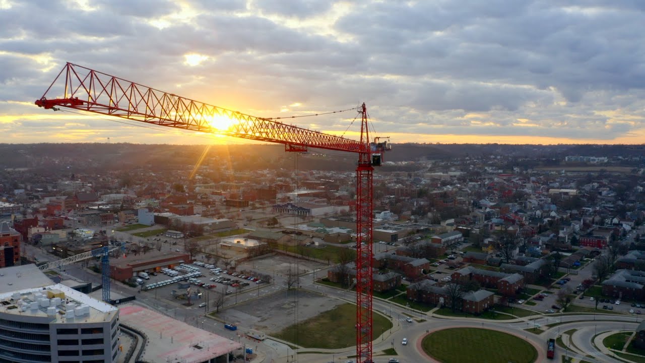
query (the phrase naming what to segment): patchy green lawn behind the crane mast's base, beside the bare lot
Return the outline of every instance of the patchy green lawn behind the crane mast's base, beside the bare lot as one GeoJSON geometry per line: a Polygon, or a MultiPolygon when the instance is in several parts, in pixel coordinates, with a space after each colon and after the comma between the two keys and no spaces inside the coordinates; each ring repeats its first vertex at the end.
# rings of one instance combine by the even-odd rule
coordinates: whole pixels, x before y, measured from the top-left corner
{"type": "MultiPolygon", "coordinates": [[[[299,324],[286,327],[273,336],[307,348],[345,348],[356,344],[355,324],[356,306],[342,304],[299,324]]],[[[390,320],[381,314],[373,315],[374,339],[391,327],[390,320]]]]}

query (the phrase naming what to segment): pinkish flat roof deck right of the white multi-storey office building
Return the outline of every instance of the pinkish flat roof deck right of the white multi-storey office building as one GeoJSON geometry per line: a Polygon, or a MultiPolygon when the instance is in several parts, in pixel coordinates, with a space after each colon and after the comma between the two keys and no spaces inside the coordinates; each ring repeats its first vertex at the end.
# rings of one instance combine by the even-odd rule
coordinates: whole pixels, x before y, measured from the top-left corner
{"type": "MultiPolygon", "coordinates": [[[[141,360],[147,362],[204,362],[241,349],[242,344],[190,326],[134,304],[120,306],[120,322],[151,337],[141,360]]],[[[204,317],[204,319],[208,319],[204,317]]]]}

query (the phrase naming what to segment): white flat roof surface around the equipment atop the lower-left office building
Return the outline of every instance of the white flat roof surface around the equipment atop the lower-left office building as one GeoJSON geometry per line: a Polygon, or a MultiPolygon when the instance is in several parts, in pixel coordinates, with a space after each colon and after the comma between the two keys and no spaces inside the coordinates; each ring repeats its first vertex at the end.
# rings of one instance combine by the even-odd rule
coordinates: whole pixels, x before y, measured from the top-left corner
{"type": "Polygon", "coordinates": [[[40,316],[44,318],[51,318],[50,323],[77,323],[77,322],[104,322],[112,320],[112,316],[117,314],[119,309],[105,302],[96,300],[84,293],[80,293],[70,287],[67,287],[63,284],[50,284],[45,287],[31,287],[28,289],[20,289],[15,291],[10,291],[0,294],[0,313],[7,313],[12,315],[23,315],[23,316],[40,316]],[[47,308],[49,304],[52,303],[54,299],[47,298],[47,293],[56,293],[61,297],[61,303],[55,307],[55,314],[53,316],[47,315],[47,308]],[[19,298],[11,300],[14,298],[14,293],[19,294],[19,298]],[[40,296],[39,295],[44,295],[40,296]],[[39,298],[44,298],[48,306],[40,306],[39,298]],[[31,309],[28,307],[23,311],[21,309],[21,303],[19,300],[23,301],[23,305],[35,303],[38,304],[37,309],[31,309]],[[8,302],[9,304],[5,304],[8,302]],[[64,314],[61,314],[61,311],[67,311],[68,309],[75,309],[77,307],[87,306],[88,314],[76,316],[74,318],[66,318],[64,314]]]}

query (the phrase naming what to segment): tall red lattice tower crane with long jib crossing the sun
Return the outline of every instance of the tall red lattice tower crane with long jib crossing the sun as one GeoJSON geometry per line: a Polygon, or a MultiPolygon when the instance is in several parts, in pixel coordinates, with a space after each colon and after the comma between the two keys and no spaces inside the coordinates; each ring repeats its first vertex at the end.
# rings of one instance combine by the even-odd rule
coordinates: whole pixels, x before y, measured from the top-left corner
{"type": "Polygon", "coordinates": [[[35,104],[45,109],[66,107],[177,129],[281,143],[286,151],[302,152],[312,147],[359,154],[356,168],[356,357],[359,363],[372,363],[372,173],[373,166],[381,165],[382,154],[390,150],[390,145],[387,141],[379,142],[379,138],[370,142],[364,103],[357,108],[361,113],[361,140],[355,141],[286,125],[277,121],[280,118],[257,118],[208,105],[66,63],[35,104]],[[235,123],[226,130],[215,129],[209,121],[220,117],[235,123]]]}

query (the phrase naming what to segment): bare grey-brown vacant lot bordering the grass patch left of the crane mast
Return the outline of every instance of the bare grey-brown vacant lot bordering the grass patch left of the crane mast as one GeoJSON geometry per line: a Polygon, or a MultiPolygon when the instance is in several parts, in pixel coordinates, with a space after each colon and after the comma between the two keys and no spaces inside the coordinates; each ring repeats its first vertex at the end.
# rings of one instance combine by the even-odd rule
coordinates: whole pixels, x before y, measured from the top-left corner
{"type": "Polygon", "coordinates": [[[339,300],[303,290],[281,291],[270,296],[240,304],[223,312],[226,322],[271,334],[323,311],[342,304],[339,300]]]}

